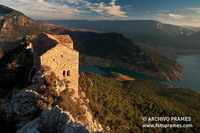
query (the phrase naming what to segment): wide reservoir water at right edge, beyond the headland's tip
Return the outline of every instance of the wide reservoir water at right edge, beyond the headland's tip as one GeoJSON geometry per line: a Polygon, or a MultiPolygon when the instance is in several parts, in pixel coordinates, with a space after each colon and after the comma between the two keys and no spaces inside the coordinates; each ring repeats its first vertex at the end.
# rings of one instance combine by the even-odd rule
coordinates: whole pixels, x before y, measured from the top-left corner
{"type": "Polygon", "coordinates": [[[200,91],[200,55],[179,56],[177,61],[184,65],[183,81],[166,84],[174,87],[190,88],[200,91]]]}

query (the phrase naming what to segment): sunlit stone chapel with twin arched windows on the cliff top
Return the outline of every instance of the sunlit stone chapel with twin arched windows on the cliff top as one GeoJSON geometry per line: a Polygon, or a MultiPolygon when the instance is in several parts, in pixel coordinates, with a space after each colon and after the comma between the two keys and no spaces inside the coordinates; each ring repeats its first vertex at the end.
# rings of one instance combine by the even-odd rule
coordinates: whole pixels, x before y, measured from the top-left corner
{"type": "Polygon", "coordinates": [[[49,67],[59,80],[69,81],[68,88],[74,89],[78,97],[79,52],[73,49],[69,35],[42,33],[33,41],[33,58],[37,71],[49,67]]]}

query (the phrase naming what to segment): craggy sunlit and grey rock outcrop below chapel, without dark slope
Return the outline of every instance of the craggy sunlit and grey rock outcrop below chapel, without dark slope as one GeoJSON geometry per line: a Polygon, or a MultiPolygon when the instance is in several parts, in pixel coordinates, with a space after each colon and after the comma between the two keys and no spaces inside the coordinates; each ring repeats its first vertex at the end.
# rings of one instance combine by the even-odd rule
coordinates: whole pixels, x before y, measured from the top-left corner
{"type": "MultiPolygon", "coordinates": [[[[42,79],[44,75],[37,76],[37,78],[39,77],[42,79]]],[[[59,107],[59,105],[55,103],[60,99],[59,96],[57,96],[57,99],[51,97],[51,92],[56,94],[57,91],[53,88],[51,90],[47,88],[45,88],[46,90],[42,90],[44,80],[45,79],[37,80],[37,83],[18,91],[9,101],[1,100],[1,108],[6,110],[8,116],[14,116],[14,119],[18,121],[16,124],[18,128],[17,133],[89,133],[103,131],[102,126],[94,120],[89,108],[81,98],[74,99],[67,95],[68,100],[63,100],[65,105],[63,105],[62,102],[57,102],[57,104],[61,103],[60,106],[63,106],[63,108],[68,106],[66,104],[70,104],[70,108],[80,110],[79,114],[74,112],[71,114],[70,110],[64,111],[59,107]],[[43,91],[46,92],[43,93],[43,91]],[[71,100],[70,103],[68,103],[69,100],[71,100]],[[48,104],[48,106],[41,105],[41,103],[45,104],[44,101],[52,103],[48,104]],[[74,107],[72,107],[72,105],[74,107]],[[80,119],[80,116],[82,119],[80,119]]],[[[56,88],[59,89],[58,86],[56,88]]]]}

